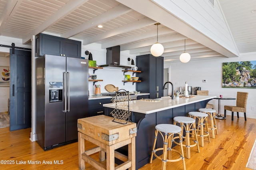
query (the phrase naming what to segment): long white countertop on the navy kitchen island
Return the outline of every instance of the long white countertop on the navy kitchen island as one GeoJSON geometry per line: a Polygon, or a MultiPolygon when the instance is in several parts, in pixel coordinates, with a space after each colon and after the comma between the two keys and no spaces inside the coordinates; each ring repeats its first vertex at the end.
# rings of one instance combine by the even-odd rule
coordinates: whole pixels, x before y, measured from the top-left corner
{"type": "MultiPolygon", "coordinates": [[[[129,103],[130,111],[149,114],[157,111],[162,111],[162,110],[171,109],[174,107],[184,106],[187,104],[192,104],[192,103],[216,98],[216,96],[199,96],[199,95],[195,95],[195,96],[196,97],[194,98],[179,98],[178,100],[176,99],[172,100],[169,96],[162,97],[161,99],[156,99],[156,100],[160,100],[160,102],[147,102],[142,100],[133,100],[133,101],[130,101],[129,103]]],[[[113,103],[103,104],[103,106],[116,108],[116,104],[113,104],[113,103]]]]}

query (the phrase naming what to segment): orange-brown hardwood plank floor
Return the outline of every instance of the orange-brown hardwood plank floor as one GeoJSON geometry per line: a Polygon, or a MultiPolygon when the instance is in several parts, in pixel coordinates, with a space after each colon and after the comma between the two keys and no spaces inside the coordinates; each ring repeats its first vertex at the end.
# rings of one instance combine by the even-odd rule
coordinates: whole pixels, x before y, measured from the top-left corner
{"type": "MultiPolygon", "coordinates": [[[[256,119],[244,121],[244,117],[237,119],[235,116],[231,121],[231,116],[227,116],[226,120],[216,120],[216,123],[218,135],[215,139],[211,138],[210,143],[206,139],[200,153],[196,147],[191,148],[191,158],[185,158],[187,170],[250,170],[245,166],[256,139],[256,119]]],[[[30,130],[10,132],[8,127],[0,129],[0,160],[9,163],[1,162],[0,170],[79,169],[77,142],[44,151],[36,142],[30,141],[30,130]]],[[[93,144],[86,144],[86,148],[94,147],[93,144]]],[[[186,149],[184,152],[186,155],[186,149]]],[[[98,154],[93,157],[98,159],[98,154]]],[[[161,167],[162,161],[154,159],[152,164],[140,170],[160,170],[161,167]]],[[[182,161],[167,162],[167,169],[182,170],[182,161]]],[[[94,168],[86,163],[86,170],[94,168]]]]}

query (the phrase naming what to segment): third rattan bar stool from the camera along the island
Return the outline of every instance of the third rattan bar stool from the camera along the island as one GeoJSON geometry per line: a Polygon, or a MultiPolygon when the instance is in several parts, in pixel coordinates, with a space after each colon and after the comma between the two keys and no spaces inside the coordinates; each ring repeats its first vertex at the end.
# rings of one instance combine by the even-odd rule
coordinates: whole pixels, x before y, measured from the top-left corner
{"type": "Polygon", "coordinates": [[[209,135],[209,129],[208,129],[208,123],[207,123],[207,119],[208,119],[208,114],[206,113],[202,113],[199,111],[191,111],[188,112],[188,115],[194,119],[198,118],[198,129],[197,131],[199,131],[200,128],[200,138],[201,138],[201,147],[204,147],[204,137],[208,136],[209,142],[211,142],[210,140],[210,135],[209,135]],[[206,135],[204,135],[204,124],[205,124],[205,128],[206,128],[206,135]]]}

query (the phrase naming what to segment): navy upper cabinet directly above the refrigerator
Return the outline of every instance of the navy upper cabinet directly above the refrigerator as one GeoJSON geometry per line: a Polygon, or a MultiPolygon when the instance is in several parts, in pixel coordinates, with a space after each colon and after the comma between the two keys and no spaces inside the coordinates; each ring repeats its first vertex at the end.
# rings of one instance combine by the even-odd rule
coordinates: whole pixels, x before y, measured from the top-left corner
{"type": "Polygon", "coordinates": [[[36,56],[48,54],[81,58],[81,41],[40,33],[36,35],[35,46],[36,56]]]}

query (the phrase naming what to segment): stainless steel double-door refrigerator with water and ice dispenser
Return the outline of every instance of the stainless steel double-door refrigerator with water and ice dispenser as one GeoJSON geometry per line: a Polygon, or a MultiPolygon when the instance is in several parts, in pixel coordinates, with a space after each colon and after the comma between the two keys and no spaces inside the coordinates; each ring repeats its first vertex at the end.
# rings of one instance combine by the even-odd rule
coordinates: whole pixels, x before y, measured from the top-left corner
{"type": "Polygon", "coordinates": [[[44,149],[77,141],[77,119],[88,117],[88,60],[36,59],[36,141],[44,149]]]}

